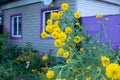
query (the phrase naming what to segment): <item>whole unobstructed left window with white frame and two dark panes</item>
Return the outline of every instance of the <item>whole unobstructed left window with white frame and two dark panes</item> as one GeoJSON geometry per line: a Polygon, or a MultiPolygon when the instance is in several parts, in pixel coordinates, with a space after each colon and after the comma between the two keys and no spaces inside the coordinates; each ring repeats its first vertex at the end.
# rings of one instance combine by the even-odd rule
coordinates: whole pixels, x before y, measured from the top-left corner
{"type": "Polygon", "coordinates": [[[22,37],[22,17],[21,15],[11,16],[11,37],[21,38],[22,37]]]}

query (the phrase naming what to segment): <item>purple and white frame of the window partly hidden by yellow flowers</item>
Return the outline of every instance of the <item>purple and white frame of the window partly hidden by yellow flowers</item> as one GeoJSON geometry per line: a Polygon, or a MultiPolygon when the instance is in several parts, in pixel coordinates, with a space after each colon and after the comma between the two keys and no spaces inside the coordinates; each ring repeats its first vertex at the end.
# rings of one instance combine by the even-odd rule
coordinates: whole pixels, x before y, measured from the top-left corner
{"type": "MultiPolygon", "coordinates": [[[[49,8],[42,8],[40,10],[40,34],[45,31],[45,13],[46,12],[59,11],[59,10],[60,10],[60,6],[53,6],[53,7],[49,7],[49,8]]],[[[41,36],[40,36],[40,38],[42,39],[41,36]]],[[[51,37],[51,35],[48,35],[47,39],[53,39],[53,38],[51,37]]]]}

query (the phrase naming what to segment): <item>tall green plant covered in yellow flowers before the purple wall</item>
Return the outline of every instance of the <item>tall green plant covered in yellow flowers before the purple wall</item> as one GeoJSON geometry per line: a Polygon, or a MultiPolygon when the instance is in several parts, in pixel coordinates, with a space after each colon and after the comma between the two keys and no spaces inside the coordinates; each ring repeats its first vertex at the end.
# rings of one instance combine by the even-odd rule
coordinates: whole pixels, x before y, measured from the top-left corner
{"type": "MultiPolygon", "coordinates": [[[[102,14],[96,18],[102,18],[102,14]]],[[[68,3],[61,5],[61,11],[53,12],[53,20],[47,21],[46,31],[54,38],[58,47],[56,56],[65,58],[63,64],[54,66],[46,73],[51,80],[118,80],[120,79],[120,51],[115,51],[99,40],[86,34],[80,25],[80,13],[73,13],[68,3]]]]}

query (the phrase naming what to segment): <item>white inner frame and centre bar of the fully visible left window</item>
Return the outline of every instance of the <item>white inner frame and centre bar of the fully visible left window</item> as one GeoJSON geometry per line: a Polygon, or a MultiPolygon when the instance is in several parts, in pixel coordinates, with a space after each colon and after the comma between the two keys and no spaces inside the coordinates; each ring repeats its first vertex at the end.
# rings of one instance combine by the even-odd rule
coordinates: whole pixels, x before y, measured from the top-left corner
{"type": "MultiPolygon", "coordinates": [[[[22,33],[19,35],[19,18],[20,17],[21,16],[13,16],[12,17],[12,37],[22,37],[22,33]],[[17,35],[14,35],[14,18],[17,18],[17,35]]],[[[21,22],[21,24],[22,24],[22,22],[21,22]]],[[[22,32],[22,30],[21,30],[21,32],[22,32]]]]}

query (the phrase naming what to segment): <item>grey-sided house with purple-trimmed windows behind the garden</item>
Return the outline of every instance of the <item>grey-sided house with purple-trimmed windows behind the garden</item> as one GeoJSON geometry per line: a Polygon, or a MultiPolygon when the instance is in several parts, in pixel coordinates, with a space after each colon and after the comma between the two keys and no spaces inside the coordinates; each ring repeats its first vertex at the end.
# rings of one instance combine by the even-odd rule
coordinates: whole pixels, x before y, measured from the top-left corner
{"type": "MultiPolygon", "coordinates": [[[[51,1],[51,0],[50,0],[51,1]]],[[[48,5],[49,0],[0,0],[0,14],[3,15],[4,32],[9,32],[10,37],[8,45],[19,45],[24,47],[27,42],[30,42],[37,50],[46,50],[47,48],[55,48],[53,39],[42,39],[40,33],[44,31],[45,22],[50,18],[50,14],[60,9],[63,2],[69,3],[73,12],[79,11],[82,16],[82,24],[89,26],[88,31],[93,33],[96,22],[92,21],[96,14],[102,13],[106,16],[119,17],[119,0],[52,0],[54,6],[48,5]],[[44,2],[48,1],[48,2],[44,2]]],[[[112,20],[112,19],[110,19],[112,20]]],[[[120,18],[117,22],[119,26],[115,28],[117,31],[117,42],[113,45],[120,45],[120,18]]],[[[116,23],[115,23],[116,24],[116,23]]],[[[114,29],[112,27],[112,29],[114,29]]],[[[114,33],[114,31],[112,31],[114,33]]],[[[113,38],[113,37],[112,37],[113,38]]]]}

